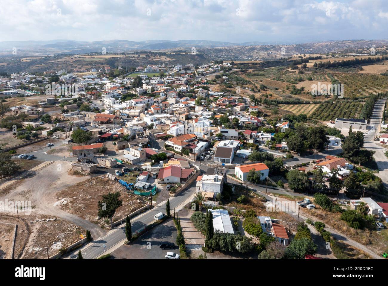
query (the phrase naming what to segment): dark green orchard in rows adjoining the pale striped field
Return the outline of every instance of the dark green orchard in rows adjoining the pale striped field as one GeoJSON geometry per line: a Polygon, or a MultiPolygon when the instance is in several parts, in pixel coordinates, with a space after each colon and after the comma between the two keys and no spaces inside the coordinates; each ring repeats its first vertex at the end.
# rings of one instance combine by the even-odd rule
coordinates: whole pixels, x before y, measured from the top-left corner
{"type": "Polygon", "coordinates": [[[322,121],[334,120],[336,118],[357,118],[361,108],[362,104],[360,102],[336,100],[319,104],[309,118],[322,121]]]}

